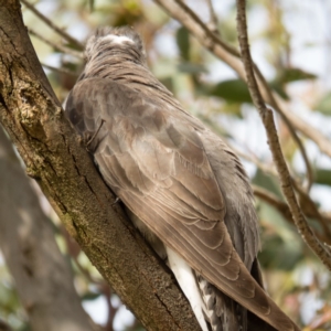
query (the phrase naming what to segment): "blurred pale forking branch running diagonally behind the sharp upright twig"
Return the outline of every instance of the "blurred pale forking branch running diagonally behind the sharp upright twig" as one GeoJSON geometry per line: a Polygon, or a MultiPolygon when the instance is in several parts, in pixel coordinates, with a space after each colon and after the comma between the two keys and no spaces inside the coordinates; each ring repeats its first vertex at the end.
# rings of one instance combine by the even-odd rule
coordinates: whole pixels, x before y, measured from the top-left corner
{"type": "MultiPolygon", "coordinates": [[[[227,63],[238,76],[246,81],[244,67],[239,61],[239,53],[233,46],[226,44],[220,36],[215,35],[201,20],[200,18],[181,0],[154,0],[163,9],[166,9],[174,19],[180,21],[207,50],[210,50],[215,56],[227,63]]],[[[320,148],[320,150],[331,157],[331,143],[327,137],[321,135],[317,129],[310,127],[302,119],[297,118],[296,115],[282,110],[279,106],[280,98],[273,94],[270,87],[268,86],[266,79],[263,77],[261,73],[257,70],[258,77],[260,78],[260,87],[263,95],[268,104],[275,108],[276,111],[281,114],[286,125],[289,127],[291,135],[293,135],[295,141],[298,143],[299,149],[302,153],[303,160],[306,162],[306,168],[308,172],[308,183],[311,182],[311,167],[308,162],[306,150],[298,137],[296,137],[295,129],[290,127],[293,126],[302,131],[303,135],[313,140],[320,148]]],[[[308,184],[309,188],[309,184],[308,184]]]]}

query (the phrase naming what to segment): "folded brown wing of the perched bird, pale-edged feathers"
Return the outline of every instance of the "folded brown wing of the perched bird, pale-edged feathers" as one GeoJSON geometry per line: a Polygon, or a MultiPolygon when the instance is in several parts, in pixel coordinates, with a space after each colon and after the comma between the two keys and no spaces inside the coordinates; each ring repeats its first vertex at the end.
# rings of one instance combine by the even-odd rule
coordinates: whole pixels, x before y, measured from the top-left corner
{"type": "Polygon", "coordinates": [[[66,113],[122,202],[227,296],[278,330],[299,330],[250,276],[224,223],[203,127],[110,79],[79,82],[66,113]]]}

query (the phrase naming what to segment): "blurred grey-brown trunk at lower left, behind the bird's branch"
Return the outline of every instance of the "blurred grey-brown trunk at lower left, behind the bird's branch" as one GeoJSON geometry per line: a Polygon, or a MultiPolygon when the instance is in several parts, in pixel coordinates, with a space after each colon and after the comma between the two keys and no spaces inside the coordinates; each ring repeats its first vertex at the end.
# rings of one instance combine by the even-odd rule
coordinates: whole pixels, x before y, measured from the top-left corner
{"type": "Polygon", "coordinates": [[[92,331],[67,261],[0,128],[0,247],[34,331],[92,331]]]}

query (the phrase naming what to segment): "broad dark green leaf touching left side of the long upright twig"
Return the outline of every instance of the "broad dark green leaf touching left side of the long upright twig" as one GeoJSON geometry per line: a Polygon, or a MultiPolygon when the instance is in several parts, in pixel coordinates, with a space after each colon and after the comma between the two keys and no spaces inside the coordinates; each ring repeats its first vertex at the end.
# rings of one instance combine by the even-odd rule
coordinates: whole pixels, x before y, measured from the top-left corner
{"type": "Polygon", "coordinates": [[[247,85],[242,79],[224,81],[215,85],[209,95],[223,98],[229,103],[250,103],[252,98],[247,85]]]}

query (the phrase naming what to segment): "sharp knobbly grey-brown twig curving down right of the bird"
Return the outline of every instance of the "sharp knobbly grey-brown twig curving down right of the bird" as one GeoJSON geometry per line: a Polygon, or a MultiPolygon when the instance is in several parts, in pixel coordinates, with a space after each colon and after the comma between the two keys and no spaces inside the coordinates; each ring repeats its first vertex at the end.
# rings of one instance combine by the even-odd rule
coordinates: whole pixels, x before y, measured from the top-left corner
{"type": "Polygon", "coordinates": [[[237,3],[238,41],[242,51],[242,60],[247,75],[248,89],[253,103],[256,106],[261,117],[263,124],[266,128],[268,143],[278,171],[282,193],[288,202],[295,224],[299,233],[301,234],[303,241],[318,255],[318,257],[322,260],[322,263],[331,270],[330,250],[322,243],[320,243],[320,241],[317,238],[312,229],[309,227],[307,220],[305,218],[305,215],[297,202],[290,174],[287,169],[286,161],[284,159],[280,143],[278,140],[273,111],[266,107],[255,78],[253,61],[250,57],[250,52],[248,46],[246,12],[245,12],[246,2],[245,0],[236,0],[236,3],[237,3]]]}

